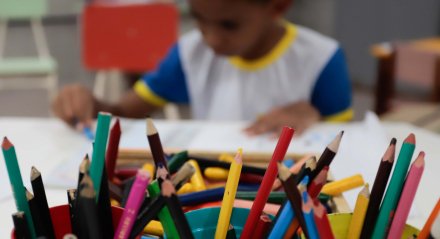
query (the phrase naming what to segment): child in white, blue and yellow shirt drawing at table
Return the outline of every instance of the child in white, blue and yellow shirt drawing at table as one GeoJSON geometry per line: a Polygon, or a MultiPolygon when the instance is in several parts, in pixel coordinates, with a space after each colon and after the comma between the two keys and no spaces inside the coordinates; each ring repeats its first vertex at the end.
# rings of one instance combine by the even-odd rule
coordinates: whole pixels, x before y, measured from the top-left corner
{"type": "Polygon", "coordinates": [[[198,29],[172,47],[118,103],[79,85],[53,103],[57,116],[90,124],[98,111],[146,117],[167,102],[191,104],[204,120],[248,120],[250,134],[301,132],[352,118],[351,89],[337,42],[282,20],[291,0],[188,0],[198,29]]]}

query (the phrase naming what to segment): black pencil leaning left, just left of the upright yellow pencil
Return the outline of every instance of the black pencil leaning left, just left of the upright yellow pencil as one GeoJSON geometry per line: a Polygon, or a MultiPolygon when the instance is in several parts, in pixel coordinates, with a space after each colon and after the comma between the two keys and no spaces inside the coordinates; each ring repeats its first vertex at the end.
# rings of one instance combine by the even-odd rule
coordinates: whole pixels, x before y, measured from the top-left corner
{"type": "MultiPolygon", "coordinates": [[[[176,191],[170,180],[164,180],[162,183],[162,196],[165,199],[165,203],[170,210],[171,216],[176,225],[177,231],[181,238],[194,238],[192,231],[186,220],[185,214],[183,214],[182,207],[180,206],[179,199],[177,199],[176,191]]],[[[225,235],[226,236],[226,235],[225,235]]]]}

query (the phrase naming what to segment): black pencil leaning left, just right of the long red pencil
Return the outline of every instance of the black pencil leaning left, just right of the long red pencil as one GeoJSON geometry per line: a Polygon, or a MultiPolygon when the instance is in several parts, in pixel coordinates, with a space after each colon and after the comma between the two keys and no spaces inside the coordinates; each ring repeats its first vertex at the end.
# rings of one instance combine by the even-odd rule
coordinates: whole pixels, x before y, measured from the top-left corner
{"type": "Polygon", "coordinates": [[[302,198],[300,192],[296,186],[295,176],[290,173],[289,169],[283,164],[278,162],[278,177],[283,185],[286,196],[290,201],[290,205],[295,212],[295,217],[298,218],[299,225],[301,226],[306,238],[309,237],[309,232],[302,212],[302,198]]]}

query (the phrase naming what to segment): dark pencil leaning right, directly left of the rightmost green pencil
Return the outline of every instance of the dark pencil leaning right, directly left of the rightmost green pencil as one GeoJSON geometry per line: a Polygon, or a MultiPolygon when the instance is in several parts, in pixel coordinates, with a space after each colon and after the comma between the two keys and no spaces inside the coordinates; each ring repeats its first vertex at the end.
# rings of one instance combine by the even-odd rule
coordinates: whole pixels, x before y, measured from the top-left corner
{"type": "Polygon", "coordinates": [[[371,189],[370,202],[368,203],[367,212],[365,214],[364,225],[360,238],[370,239],[376,223],[379,207],[382,201],[385,188],[390,177],[391,169],[394,163],[394,155],[396,151],[396,139],[391,139],[390,145],[385,151],[379,164],[379,169],[374,179],[373,188],[371,189]]]}

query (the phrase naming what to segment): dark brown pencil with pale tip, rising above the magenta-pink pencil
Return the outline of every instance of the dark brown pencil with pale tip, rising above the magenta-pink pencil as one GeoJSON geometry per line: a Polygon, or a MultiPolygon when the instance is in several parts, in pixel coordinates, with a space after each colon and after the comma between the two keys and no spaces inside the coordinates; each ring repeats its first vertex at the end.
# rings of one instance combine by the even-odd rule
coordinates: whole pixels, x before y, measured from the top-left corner
{"type": "Polygon", "coordinates": [[[157,132],[156,126],[154,126],[151,118],[147,118],[147,138],[156,168],[159,164],[162,164],[168,171],[167,161],[165,160],[165,154],[163,152],[159,133],[157,132]]]}

